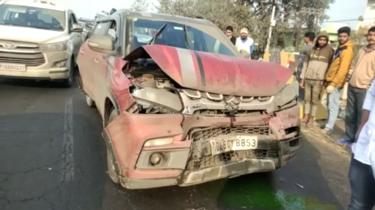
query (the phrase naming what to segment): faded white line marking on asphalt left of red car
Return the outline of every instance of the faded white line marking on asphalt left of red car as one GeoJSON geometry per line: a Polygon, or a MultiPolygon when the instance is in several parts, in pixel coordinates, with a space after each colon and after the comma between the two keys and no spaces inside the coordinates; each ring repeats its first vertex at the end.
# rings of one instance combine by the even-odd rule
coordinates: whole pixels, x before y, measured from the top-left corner
{"type": "Polygon", "coordinates": [[[73,99],[65,103],[62,181],[74,179],[73,99]]]}

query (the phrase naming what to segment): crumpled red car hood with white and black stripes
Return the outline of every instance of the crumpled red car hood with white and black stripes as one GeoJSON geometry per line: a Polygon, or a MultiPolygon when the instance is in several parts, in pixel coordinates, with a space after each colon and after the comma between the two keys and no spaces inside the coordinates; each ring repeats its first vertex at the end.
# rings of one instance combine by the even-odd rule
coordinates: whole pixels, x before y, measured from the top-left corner
{"type": "Polygon", "coordinates": [[[160,44],[138,47],[124,59],[152,58],[182,87],[234,96],[273,96],[285,86],[293,70],[271,62],[160,44]]]}

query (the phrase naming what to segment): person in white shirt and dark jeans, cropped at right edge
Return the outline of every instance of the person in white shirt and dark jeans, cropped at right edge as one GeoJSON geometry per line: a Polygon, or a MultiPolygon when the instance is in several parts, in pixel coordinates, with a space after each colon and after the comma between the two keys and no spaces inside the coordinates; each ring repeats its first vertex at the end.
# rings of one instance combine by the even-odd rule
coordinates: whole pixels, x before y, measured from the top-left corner
{"type": "Polygon", "coordinates": [[[375,206],[375,80],[366,93],[356,139],[349,168],[351,198],[348,210],[372,210],[375,206]]]}

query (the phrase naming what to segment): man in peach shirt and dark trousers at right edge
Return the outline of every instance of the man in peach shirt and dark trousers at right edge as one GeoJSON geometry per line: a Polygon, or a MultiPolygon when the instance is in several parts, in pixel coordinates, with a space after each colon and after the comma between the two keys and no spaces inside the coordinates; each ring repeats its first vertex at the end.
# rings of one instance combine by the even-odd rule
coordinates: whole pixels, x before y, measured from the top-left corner
{"type": "Polygon", "coordinates": [[[349,80],[345,134],[342,143],[354,143],[362,116],[362,106],[371,80],[375,76],[375,27],[367,33],[368,45],[358,53],[358,60],[349,80]]]}

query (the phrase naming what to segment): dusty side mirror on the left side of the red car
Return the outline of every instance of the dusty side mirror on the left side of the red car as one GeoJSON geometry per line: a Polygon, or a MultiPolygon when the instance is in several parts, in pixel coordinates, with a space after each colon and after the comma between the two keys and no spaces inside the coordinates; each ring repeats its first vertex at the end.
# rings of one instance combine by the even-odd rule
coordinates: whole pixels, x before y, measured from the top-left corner
{"type": "Polygon", "coordinates": [[[89,48],[93,51],[116,55],[113,39],[108,36],[92,36],[89,38],[89,48]]]}

